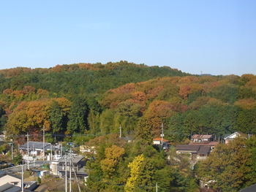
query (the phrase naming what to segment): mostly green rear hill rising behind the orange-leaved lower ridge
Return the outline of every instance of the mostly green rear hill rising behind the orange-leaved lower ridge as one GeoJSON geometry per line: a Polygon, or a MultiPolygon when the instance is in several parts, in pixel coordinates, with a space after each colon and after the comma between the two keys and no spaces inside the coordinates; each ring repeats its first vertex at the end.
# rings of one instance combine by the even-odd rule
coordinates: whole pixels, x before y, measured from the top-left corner
{"type": "Polygon", "coordinates": [[[129,82],[142,82],[156,77],[184,77],[184,72],[168,66],[146,66],[127,61],[108,64],[58,65],[50,69],[17,67],[0,70],[0,92],[7,88],[21,91],[25,86],[44,89],[53,96],[83,94],[98,96],[110,88],[129,82]]]}

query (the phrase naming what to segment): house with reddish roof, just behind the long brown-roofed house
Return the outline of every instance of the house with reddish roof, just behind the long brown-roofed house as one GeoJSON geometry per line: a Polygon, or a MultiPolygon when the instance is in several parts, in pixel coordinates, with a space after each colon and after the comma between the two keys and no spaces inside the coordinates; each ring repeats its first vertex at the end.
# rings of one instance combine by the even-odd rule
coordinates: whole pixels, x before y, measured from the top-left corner
{"type": "Polygon", "coordinates": [[[211,134],[194,134],[189,144],[210,146],[211,150],[213,150],[214,146],[219,142],[214,142],[214,137],[211,134]]]}

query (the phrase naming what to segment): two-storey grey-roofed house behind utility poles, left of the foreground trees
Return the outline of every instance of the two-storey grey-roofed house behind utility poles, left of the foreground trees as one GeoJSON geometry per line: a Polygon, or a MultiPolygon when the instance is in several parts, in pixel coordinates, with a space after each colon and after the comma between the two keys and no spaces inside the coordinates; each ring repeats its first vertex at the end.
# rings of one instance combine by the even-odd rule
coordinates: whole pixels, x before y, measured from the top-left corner
{"type": "MultiPolygon", "coordinates": [[[[84,172],[84,166],[86,166],[86,159],[83,156],[74,156],[71,157],[71,177],[74,179],[75,174],[78,179],[83,180],[84,177],[88,176],[84,172]]],[[[63,158],[58,160],[51,161],[50,169],[52,174],[58,175],[60,178],[64,178],[66,174],[66,162],[67,162],[67,176],[69,177],[70,173],[70,156],[64,155],[63,158]]]]}

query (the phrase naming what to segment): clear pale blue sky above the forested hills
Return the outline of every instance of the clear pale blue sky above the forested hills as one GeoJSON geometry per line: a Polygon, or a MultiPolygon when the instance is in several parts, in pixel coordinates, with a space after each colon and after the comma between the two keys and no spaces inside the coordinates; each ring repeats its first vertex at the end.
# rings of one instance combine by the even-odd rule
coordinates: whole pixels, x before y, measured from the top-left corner
{"type": "Polygon", "coordinates": [[[256,74],[255,0],[8,0],[0,29],[0,69],[123,60],[256,74]]]}

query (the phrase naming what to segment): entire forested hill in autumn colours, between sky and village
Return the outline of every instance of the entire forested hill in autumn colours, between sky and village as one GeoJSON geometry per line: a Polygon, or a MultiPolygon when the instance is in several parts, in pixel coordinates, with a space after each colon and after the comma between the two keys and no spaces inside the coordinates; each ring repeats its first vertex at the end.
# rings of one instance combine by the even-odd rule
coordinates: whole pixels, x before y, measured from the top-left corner
{"type": "MultiPolygon", "coordinates": [[[[256,77],[192,76],[124,61],[1,71],[0,128],[7,134],[123,135],[181,142],[191,134],[256,134],[256,77]]],[[[19,137],[20,138],[20,137],[19,137]]]]}

